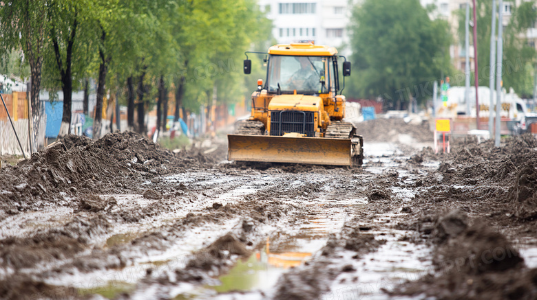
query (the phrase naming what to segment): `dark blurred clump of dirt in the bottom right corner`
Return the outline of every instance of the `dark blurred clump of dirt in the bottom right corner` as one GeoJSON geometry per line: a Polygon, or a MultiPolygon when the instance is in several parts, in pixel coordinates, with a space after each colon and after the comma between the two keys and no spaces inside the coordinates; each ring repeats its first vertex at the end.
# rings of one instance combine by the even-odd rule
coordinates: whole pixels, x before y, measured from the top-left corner
{"type": "Polygon", "coordinates": [[[440,216],[434,229],[436,275],[402,284],[392,295],[426,295],[435,299],[536,299],[537,269],[505,238],[484,222],[467,224],[460,210],[440,216]]]}

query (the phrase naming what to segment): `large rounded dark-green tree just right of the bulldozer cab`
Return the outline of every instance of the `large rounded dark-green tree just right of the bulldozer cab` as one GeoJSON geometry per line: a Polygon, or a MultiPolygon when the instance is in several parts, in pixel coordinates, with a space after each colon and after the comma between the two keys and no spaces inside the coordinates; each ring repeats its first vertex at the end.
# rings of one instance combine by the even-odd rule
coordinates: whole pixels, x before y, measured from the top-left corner
{"type": "Polygon", "coordinates": [[[432,21],[418,0],[365,0],[353,9],[349,29],[348,97],[380,96],[392,106],[423,101],[432,94],[425,83],[450,71],[448,23],[432,21]]]}

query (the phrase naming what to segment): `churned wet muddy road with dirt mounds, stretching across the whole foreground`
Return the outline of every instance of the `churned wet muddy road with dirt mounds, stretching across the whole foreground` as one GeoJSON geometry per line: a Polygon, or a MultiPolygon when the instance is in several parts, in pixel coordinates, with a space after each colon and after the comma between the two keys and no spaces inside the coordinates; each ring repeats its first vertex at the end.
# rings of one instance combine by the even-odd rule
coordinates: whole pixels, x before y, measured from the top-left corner
{"type": "Polygon", "coordinates": [[[0,170],[0,299],[537,299],[537,141],[361,124],[361,168],[132,133],[0,170]]]}

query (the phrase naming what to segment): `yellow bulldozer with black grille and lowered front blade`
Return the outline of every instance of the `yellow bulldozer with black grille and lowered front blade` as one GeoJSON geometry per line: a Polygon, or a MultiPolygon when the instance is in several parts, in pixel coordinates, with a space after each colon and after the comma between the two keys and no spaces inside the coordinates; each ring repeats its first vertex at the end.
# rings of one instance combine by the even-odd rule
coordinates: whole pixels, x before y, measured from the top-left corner
{"type": "MultiPolygon", "coordinates": [[[[257,80],[249,119],[228,135],[230,161],[361,165],[363,139],[345,117],[337,49],[313,43],[275,45],[264,54],[266,80],[257,80]]],[[[350,76],[344,58],[341,75],[350,76]]]]}

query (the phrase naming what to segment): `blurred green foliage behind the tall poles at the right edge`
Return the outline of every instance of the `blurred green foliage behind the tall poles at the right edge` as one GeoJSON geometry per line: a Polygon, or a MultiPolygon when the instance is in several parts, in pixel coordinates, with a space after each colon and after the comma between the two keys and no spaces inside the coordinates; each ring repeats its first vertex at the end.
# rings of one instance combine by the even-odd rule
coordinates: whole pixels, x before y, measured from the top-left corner
{"type": "MultiPolygon", "coordinates": [[[[505,3],[506,1],[504,1],[505,3]]],[[[535,49],[525,41],[524,34],[528,28],[534,27],[537,19],[537,11],[534,9],[535,1],[527,1],[516,6],[511,2],[511,15],[503,31],[503,86],[509,91],[514,89],[518,95],[529,97],[533,93],[533,61],[535,49]]],[[[498,3],[498,1],[496,1],[498,3]]],[[[476,0],[477,14],[477,56],[478,56],[478,79],[488,85],[490,76],[490,32],[492,23],[492,1],[476,0]]],[[[496,12],[498,8],[496,8],[496,12]]],[[[464,43],[464,20],[465,10],[459,10],[459,41],[464,43]]],[[[496,19],[496,26],[498,20],[496,19]]],[[[498,28],[496,27],[496,34],[498,28]]],[[[473,31],[470,27],[470,43],[473,41],[473,31]]],[[[493,67],[494,68],[494,67],[493,67]]],[[[459,82],[463,84],[463,82],[459,82]]],[[[474,80],[472,80],[472,85],[474,80]]]]}

